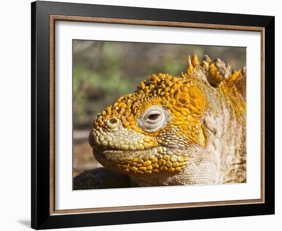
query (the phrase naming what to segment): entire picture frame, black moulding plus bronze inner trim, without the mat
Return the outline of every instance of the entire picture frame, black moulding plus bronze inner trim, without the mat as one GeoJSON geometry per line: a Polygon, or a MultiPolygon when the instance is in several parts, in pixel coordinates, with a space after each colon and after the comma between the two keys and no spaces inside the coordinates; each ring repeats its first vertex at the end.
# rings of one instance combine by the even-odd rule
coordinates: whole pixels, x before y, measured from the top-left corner
{"type": "Polygon", "coordinates": [[[274,214],[274,17],[103,5],[31,4],[31,227],[35,229],[274,214]],[[258,31],[261,197],[253,200],[55,209],[55,21],[258,31]]]}

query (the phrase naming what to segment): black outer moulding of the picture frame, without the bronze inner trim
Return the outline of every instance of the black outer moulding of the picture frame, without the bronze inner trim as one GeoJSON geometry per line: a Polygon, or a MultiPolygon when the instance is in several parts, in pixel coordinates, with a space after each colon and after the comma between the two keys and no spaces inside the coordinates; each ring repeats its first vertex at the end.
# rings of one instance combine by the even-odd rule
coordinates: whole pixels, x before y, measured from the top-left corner
{"type": "Polygon", "coordinates": [[[274,214],[274,16],[31,3],[31,227],[34,229],[274,214]],[[49,15],[126,18],[265,28],[265,203],[50,216],[49,15]]]}

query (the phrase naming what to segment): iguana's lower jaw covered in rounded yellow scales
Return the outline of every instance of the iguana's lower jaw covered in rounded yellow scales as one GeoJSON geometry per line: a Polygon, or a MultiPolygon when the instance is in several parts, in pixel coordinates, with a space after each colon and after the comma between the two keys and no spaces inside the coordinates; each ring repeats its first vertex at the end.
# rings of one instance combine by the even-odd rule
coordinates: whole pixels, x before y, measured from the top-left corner
{"type": "Polygon", "coordinates": [[[93,149],[93,155],[108,169],[133,176],[151,176],[171,175],[184,169],[191,156],[185,151],[158,146],[134,151],[93,149]]]}

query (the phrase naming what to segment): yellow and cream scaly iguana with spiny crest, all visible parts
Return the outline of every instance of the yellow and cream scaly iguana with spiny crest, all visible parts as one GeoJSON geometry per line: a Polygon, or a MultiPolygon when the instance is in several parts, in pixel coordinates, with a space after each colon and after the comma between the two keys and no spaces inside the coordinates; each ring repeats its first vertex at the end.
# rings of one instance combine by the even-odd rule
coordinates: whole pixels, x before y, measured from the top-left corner
{"type": "Polygon", "coordinates": [[[246,182],[246,68],[205,55],[153,74],[99,113],[89,134],[105,168],[74,189],[246,182]]]}

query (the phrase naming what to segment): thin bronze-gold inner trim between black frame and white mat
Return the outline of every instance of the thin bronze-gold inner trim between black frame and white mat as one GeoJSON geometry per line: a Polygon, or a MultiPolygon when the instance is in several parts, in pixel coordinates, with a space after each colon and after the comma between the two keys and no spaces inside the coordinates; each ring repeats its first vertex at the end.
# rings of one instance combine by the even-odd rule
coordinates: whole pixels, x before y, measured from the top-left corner
{"type": "Polygon", "coordinates": [[[147,21],[147,20],[128,20],[124,18],[103,18],[103,17],[81,17],[67,15],[50,15],[50,216],[63,214],[79,214],[79,213],[101,213],[112,211],[126,210],[149,210],[149,209],[165,209],[165,208],[184,208],[184,207],[203,207],[218,205],[236,205],[236,204],[255,204],[265,202],[265,92],[264,92],[264,66],[265,66],[265,28],[251,26],[234,26],[234,25],[217,25],[217,24],[199,24],[199,23],[183,23],[183,22],[166,22],[166,21],[147,21]],[[242,30],[242,31],[258,31],[260,32],[260,66],[261,66],[261,85],[260,85],[260,199],[250,200],[230,200],[230,201],[211,201],[196,203],[174,203],[174,204],[155,204],[155,205],[134,205],[134,206],[118,206],[103,208],[76,208],[76,209],[55,209],[55,21],[71,21],[71,22],[92,22],[92,23],[111,23],[111,24],[128,24],[128,25],[147,25],[147,26],[167,26],[167,27],[186,27],[200,29],[219,29],[219,30],[242,30]]]}

